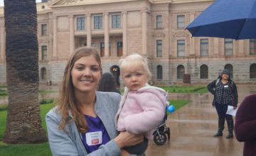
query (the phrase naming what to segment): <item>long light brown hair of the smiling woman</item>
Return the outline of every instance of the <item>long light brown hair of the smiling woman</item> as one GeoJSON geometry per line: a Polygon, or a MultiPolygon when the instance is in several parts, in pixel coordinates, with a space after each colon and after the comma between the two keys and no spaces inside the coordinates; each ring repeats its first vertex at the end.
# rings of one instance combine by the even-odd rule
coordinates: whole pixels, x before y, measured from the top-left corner
{"type": "MultiPolygon", "coordinates": [[[[63,81],[60,84],[59,96],[57,99],[56,104],[60,109],[60,113],[62,115],[62,119],[60,121],[59,128],[60,130],[65,131],[65,125],[68,122],[69,118],[69,111],[72,113],[72,121],[75,121],[76,126],[80,133],[85,133],[88,129],[87,123],[85,121],[85,117],[80,111],[79,106],[76,103],[75,94],[74,94],[74,86],[71,77],[71,71],[73,66],[77,60],[81,57],[87,57],[92,55],[95,57],[95,60],[100,65],[100,72],[102,72],[102,66],[100,61],[100,55],[98,54],[97,50],[94,48],[78,48],[73,52],[73,54],[69,57],[68,63],[65,67],[65,72],[63,75],[63,81]]],[[[70,123],[72,122],[70,121],[70,123]]]]}

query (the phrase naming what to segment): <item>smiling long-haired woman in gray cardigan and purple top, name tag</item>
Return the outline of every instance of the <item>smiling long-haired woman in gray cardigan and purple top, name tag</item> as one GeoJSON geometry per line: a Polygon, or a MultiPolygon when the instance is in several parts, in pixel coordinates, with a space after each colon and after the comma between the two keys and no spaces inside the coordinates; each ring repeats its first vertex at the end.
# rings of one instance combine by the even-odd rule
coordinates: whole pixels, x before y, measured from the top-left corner
{"type": "Polygon", "coordinates": [[[142,143],[143,135],[117,135],[114,116],[120,95],[98,92],[100,56],[93,48],[78,48],[70,56],[60,85],[58,106],[46,115],[53,155],[121,155],[123,147],[142,143]]]}

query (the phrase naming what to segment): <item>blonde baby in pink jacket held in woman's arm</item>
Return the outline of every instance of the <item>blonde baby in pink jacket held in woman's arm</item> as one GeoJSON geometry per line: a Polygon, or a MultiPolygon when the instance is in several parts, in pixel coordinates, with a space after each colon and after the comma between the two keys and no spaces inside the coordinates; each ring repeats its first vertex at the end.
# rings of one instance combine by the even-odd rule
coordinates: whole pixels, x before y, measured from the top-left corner
{"type": "Polygon", "coordinates": [[[166,91],[147,84],[151,78],[146,59],[139,54],[132,54],[120,60],[121,77],[124,80],[124,95],[117,111],[117,130],[134,134],[144,134],[143,143],[125,147],[131,154],[141,154],[146,150],[148,139],[153,139],[153,132],[164,119],[166,91]]]}

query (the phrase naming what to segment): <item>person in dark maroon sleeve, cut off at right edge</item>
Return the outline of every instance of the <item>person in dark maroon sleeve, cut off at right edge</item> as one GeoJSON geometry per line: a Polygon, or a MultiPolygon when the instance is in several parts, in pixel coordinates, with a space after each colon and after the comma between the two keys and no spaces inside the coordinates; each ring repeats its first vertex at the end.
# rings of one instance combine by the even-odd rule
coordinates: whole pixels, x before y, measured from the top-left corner
{"type": "Polygon", "coordinates": [[[235,137],[244,143],[243,155],[256,155],[256,94],[245,97],[235,116],[235,137]]]}

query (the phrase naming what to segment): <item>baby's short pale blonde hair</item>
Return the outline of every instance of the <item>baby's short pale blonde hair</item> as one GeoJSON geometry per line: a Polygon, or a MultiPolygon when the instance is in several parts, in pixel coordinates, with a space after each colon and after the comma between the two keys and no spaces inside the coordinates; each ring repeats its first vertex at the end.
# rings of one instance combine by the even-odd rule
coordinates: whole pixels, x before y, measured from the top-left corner
{"type": "Polygon", "coordinates": [[[138,65],[142,65],[144,67],[146,73],[149,76],[149,79],[151,79],[151,72],[149,71],[148,62],[147,62],[146,58],[142,57],[142,55],[139,55],[138,53],[128,55],[127,57],[125,57],[119,61],[121,75],[123,74],[122,69],[124,69],[125,67],[136,67],[138,65]]]}

